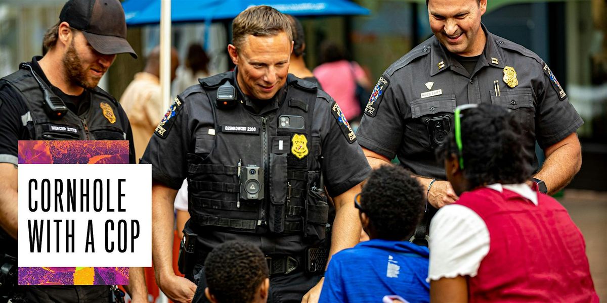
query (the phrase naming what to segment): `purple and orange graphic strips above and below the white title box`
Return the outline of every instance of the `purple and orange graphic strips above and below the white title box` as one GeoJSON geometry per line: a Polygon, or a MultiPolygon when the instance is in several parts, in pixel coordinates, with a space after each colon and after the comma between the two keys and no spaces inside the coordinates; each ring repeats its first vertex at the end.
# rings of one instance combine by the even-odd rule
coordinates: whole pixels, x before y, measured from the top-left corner
{"type": "MultiPolygon", "coordinates": [[[[19,141],[19,164],[128,164],[129,141],[19,141]]],[[[19,267],[19,285],[124,285],[128,267],[19,267]]]]}

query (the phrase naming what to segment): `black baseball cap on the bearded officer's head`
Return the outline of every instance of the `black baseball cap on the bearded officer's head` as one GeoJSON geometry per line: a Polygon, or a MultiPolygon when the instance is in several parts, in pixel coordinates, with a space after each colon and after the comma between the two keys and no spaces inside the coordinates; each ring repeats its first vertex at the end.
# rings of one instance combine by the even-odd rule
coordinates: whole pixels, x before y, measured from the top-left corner
{"type": "Polygon", "coordinates": [[[126,41],[124,10],[118,0],[69,0],[63,5],[59,21],[83,32],[89,44],[104,55],[137,53],[126,41]]]}

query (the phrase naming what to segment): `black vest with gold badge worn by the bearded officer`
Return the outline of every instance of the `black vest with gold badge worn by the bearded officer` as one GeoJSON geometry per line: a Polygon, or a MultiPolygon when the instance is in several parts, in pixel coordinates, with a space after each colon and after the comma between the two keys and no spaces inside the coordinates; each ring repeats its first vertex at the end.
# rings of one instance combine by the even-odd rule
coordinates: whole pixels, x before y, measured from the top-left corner
{"type": "Polygon", "coordinates": [[[32,140],[126,140],[127,121],[120,121],[118,102],[95,87],[90,108],[82,117],[68,110],[63,118],[50,118],[42,107],[44,95],[29,70],[21,69],[0,80],[21,95],[29,112],[22,117],[32,140]]]}

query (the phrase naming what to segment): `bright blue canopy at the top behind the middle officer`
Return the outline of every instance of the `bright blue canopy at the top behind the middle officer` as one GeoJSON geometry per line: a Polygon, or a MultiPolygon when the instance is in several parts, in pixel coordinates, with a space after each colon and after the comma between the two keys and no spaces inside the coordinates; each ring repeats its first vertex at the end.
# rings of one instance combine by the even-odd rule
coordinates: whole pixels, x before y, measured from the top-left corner
{"type": "MultiPolygon", "coordinates": [[[[172,22],[211,22],[232,19],[253,5],[270,5],[293,16],[368,15],[367,8],[348,0],[173,0],[172,22]]],[[[160,22],[160,0],[123,2],[128,25],[160,22]]]]}

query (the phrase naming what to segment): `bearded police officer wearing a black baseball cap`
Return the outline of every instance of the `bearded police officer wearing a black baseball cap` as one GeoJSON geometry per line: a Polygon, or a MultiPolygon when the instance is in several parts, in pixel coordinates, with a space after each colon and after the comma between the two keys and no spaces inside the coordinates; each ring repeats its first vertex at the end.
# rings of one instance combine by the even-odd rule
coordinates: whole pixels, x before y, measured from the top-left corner
{"type": "MultiPolygon", "coordinates": [[[[129,120],[97,84],[118,53],[137,54],[117,0],[68,1],[42,44],[44,56],[0,79],[0,301],[110,302],[120,299],[110,285],[15,286],[18,141],[128,140],[135,163],[129,120]]],[[[147,302],[143,269],[131,268],[130,278],[134,301],[147,302]]]]}

